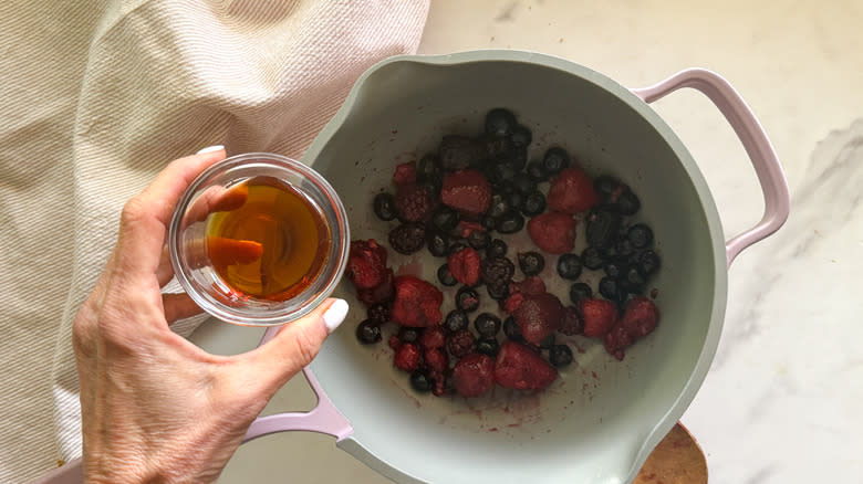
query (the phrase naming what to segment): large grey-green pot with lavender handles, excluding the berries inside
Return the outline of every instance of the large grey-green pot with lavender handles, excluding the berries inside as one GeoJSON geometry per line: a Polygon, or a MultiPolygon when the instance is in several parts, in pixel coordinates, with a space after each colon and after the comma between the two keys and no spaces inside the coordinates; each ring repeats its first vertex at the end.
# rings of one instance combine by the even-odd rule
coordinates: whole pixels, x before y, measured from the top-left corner
{"type": "MultiPolygon", "coordinates": [[[[625,483],[684,413],[719,340],[728,264],[788,217],[784,175],[757,119],[725,80],[704,70],[631,91],[529,52],[397,56],[363,74],[303,161],[340,193],[353,239],[381,238],[383,222],[368,207],[395,162],[432,150],[443,134],[474,134],[497,106],[533,129],[540,143],[531,159],[558,144],[588,171],[614,173],[638,193],[640,217],[654,228],[664,257],[652,284],[659,326],[623,361],[578,339],[584,350],[575,354],[578,365],[539,394],[498,388],[471,400],[416,396],[382,347],[357,344],[353,327],[364,311],[343,284],[335,295],[354,311],[305,370],[318,407],[260,418],[247,440],[288,430],[332,434],[340,449],[405,483],[625,483]],[[680,87],[703,92],[722,112],[763,189],[763,219],[728,241],[693,157],[648,105],[680,87]]],[[[413,266],[434,280],[439,264],[413,266]]]]}

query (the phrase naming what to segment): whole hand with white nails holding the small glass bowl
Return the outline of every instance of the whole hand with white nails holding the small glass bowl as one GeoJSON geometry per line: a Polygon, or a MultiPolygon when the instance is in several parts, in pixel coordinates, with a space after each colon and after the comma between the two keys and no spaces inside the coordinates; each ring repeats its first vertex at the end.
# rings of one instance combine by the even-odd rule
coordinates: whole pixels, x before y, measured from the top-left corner
{"type": "Polygon", "coordinates": [[[89,483],[212,482],[269,399],[311,362],[347,313],[327,299],[268,344],[210,355],[168,325],[200,309],[162,294],[167,224],[183,190],[225,158],[173,161],[123,209],[116,248],[73,325],[89,483]]]}

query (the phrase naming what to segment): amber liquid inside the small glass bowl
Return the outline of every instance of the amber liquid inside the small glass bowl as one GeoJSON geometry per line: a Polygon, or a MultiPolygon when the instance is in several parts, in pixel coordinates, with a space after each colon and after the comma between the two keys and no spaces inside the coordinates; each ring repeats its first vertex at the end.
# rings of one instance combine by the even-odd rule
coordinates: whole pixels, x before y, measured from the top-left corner
{"type": "Polygon", "coordinates": [[[272,177],[252,178],[226,193],[228,202],[214,203],[220,211],[209,215],[206,231],[208,256],[221,280],[240,297],[270,301],[308,288],[332,243],[318,206],[272,177]]]}

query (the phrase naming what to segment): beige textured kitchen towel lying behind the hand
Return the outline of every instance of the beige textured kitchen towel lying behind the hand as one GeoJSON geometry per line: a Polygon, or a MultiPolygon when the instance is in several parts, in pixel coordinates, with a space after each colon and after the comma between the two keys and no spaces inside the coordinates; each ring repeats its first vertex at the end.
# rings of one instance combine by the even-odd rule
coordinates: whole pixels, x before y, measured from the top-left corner
{"type": "Polygon", "coordinates": [[[416,51],[427,10],[0,1],[0,482],[80,455],[71,322],[123,203],[209,145],[299,158],[365,69],[416,51]]]}

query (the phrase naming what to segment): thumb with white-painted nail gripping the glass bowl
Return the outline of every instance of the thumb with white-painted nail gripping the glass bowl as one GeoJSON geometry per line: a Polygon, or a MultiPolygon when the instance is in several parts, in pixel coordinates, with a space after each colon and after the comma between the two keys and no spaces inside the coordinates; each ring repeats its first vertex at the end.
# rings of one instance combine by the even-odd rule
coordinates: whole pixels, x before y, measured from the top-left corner
{"type": "Polygon", "coordinates": [[[329,298],[308,315],[275,330],[267,330],[261,346],[246,354],[251,375],[263,386],[267,397],[274,394],[303,367],[312,362],[326,336],[347,316],[347,302],[329,298]],[[273,335],[274,333],[274,335],[273,335]]]}

